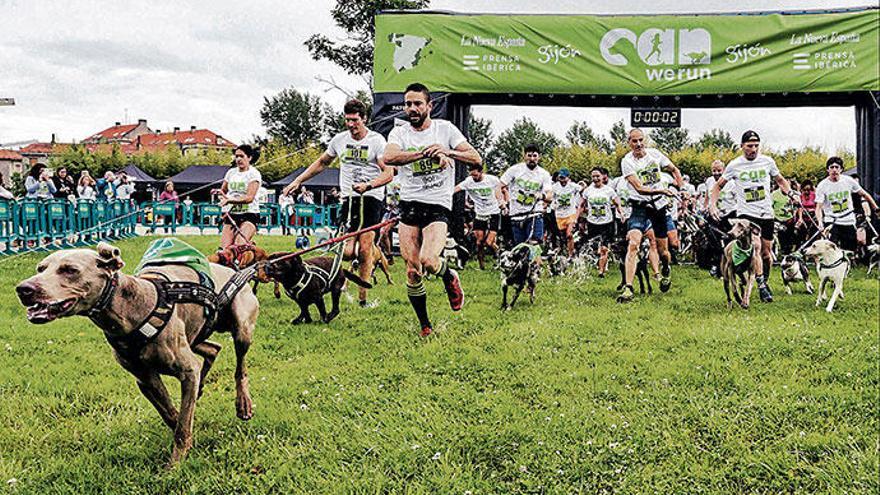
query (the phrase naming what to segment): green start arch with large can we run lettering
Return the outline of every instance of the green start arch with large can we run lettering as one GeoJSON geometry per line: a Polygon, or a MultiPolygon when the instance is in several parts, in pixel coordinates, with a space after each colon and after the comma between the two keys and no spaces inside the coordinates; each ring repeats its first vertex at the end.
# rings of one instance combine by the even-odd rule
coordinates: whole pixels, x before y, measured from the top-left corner
{"type": "MultiPolygon", "coordinates": [[[[405,123],[399,120],[403,116],[401,91],[412,82],[425,83],[434,90],[432,116],[451,121],[466,136],[472,105],[855,107],[858,173],[868,191],[875,197],[880,193],[880,65],[876,41],[880,15],[877,7],[639,17],[382,12],[376,17],[373,128],[387,135],[394,125],[405,123]],[[735,26],[730,27],[739,22],[741,16],[767,17],[748,17],[748,20],[750,24],[768,21],[769,31],[764,34],[742,32],[735,26]],[[717,18],[713,21],[711,17],[717,18]],[[536,25],[548,28],[548,23],[560,26],[555,30],[552,29],[555,24],[550,25],[550,30],[536,28],[536,25]],[[802,27],[811,23],[815,29],[802,27]],[[788,31],[780,35],[783,28],[788,31]],[[648,40],[654,38],[653,49],[650,42],[641,40],[648,33],[648,40]],[[663,38],[667,33],[672,33],[671,37],[663,38]],[[657,40],[683,43],[687,35],[691,37],[688,41],[693,43],[695,33],[705,34],[705,51],[690,53],[678,47],[669,53],[668,60],[658,64],[662,50],[658,50],[657,40]],[[617,36],[606,43],[606,37],[612,34],[617,36]],[[591,38],[593,35],[597,37],[591,38]],[[720,40],[732,36],[740,43],[737,46],[754,49],[749,52],[752,55],[749,64],[732,64],[730,46],[725,50],[724,43],[711,44],[712,37],[720,40]],[[619,42],[621,39],[623,42],[619,42]],[[629,40],[637,51],[624,49],[629,40]],[[542,43],[550,44],[538,46],[542,43]],[[767,48],[771,45],[772,50],[767,48]],[[852,50],[848,59],[846,53],[836,53],[847,51],[841,47],[852,50]],[[657,58],[650,59],[655,50],[657,58]],[[556,59],[548,56],[550,54],[556,59]],[[767,60],[776,61],[772,66],[774,70],[766,73],[778,72],[780,77],[761,78],[760,68],[766,66],[760,63],[765,55],[767,60]],[[838,58],[825,58],[826,55],[838,58]],[[849,65],[843,65],[842,60],[849,60],[846,62],[849,65]],[[832,74],[832,62],[845,70],[832,74]],[[653,66],[661,70],[657,72],[653,66]],[[442,67],[446,69],[441,70],[442,67]],[[575,67],[577,70],[570,69],[575,67]],[[637,71],[645,70],[646,76],[654,73],[670,79],[637,80],[633,77],[637,72],[626,72],[633,67],[637,71]],[[700,71],[708,71],[709,77],[704,78],[700,71]],[[737,71],[745,76],[731,76],[740,73],[737,71]],[[684,81],[682,74],[686,76],[684,81]],[[699,75],[696,81],[690,80],[691,74],[699,75]],[[837,79],[822,86],[825,77],[837,79]],[[822,87],[830,90],[815,90],[822,87]]],[[[456,167],[457,180],[463,180],[466,173],[464,167],[456,167]]],[[[455,198],[456,211],[463,208],[461,196],[455,198]]],[[[453,215],[453,218],[461,218],[461,215],[453,215]]],[[[453,233],[460,230],[460,225],[452,226],[453,233]]]]}

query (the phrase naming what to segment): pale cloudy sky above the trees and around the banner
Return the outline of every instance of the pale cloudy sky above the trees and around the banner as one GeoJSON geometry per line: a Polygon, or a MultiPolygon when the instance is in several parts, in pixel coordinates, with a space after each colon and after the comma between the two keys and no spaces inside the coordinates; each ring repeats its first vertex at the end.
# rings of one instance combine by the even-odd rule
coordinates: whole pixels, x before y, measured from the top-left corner
{"type": "MultiPolygon", "coordinates": [[[[876,0],[873,0],[876,3],[876,0]]],[[[746,11],[853,7],[872,0],[741,0],[746,11]]],[[[320,94],[341,105],[344,95],[317,77],[351,91],[364,80],[315,62],[303,42],[316,32],[340,35],[330,18],[335,0],[239,2],[126,0],[0,0],[0,143],[81,140],[116,121],[146,118],[153,129],[210,128],[236,142],[263,134],[264,96],[286,87],[320,94]]],[[[728,12],[726,0],[701,2],[593,0],[434,0],[434,9],[462,12],[644,14],[728,12]]],[[[525,115],[560,137],[572,120],[607,132],[626,109],[477,107],[496,133],[525,115]]],[[[774,148],[817,145],[855,148],[852,109],[684,110],[692,134],[719,121],[734,136],[753,127],[774,148]],[[711,112],[711,117],[710,117],[711,112]],[[807,125],[805,125],[807,123],[807,125]]]]}

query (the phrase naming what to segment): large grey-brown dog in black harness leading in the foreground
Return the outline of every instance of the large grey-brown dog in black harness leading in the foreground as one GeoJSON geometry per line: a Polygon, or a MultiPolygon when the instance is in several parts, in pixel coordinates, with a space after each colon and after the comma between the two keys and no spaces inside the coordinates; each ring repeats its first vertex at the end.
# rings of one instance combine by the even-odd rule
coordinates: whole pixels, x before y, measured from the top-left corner
{"type": "MultiPolygon", "coordinates": [[[[220,344],[206,340],[213,329],[203,328],[208,321],[204,307],[169,305],[168,299],[163,300],[167,289],[160,298],[160,287],[170,287],[176,281],[198,282],[194,270],[163,265],[148,267],[135,277],[121,273],[123,266],[119,249],[103,242],[98,244],[97,252],[58,251],[41,261],[38,273],[21,282],[16,292],[32,323],[82,315],[104,331],[116,360],[134,375],[141,392],[174,431],[169,462],[174,465],[192,447],[196,398],[220,352],[220,344]],[[180,381],[180,411],[174,407],[160,374],[180,381]]],[[[219,290],[234,273],[212,264],[214,290],[219,290]]],[[[253,416],[244,357],[259,310],[256,296],[242,290],[226,308],[218,308],[215,320],[217,331],[232,332],[235,342],[235,409],[244,420],[253,416]]]]}

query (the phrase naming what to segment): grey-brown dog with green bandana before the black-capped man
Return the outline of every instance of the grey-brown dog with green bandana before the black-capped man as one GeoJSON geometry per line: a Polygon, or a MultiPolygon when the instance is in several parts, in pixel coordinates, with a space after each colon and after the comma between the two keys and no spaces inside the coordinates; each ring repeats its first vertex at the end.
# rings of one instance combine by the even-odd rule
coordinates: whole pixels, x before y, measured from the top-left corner
{"type": "Polygon", "coordinates": [[[742,219],[733,219],[730,225],[728,235],[733,240],[727,243],[721,256],[721,278],[724,279],[727,308],[733,307],[730,298],[732,290],[733,299],[743,309],[748,309],[752,288],[755,285],[755,273],[761,263],[761,245],[756,242],[759,238],[756,236],[761,235],[761,228],[742,219]],[[739,254],[736,255],[734,251],[739,254]]]}

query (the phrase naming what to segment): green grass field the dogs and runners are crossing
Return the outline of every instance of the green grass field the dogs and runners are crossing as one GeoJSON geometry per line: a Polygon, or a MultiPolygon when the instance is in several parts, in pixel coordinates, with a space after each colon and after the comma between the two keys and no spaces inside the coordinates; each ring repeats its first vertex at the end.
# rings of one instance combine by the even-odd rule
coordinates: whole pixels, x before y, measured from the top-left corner
{"type": "MultiPolygon", "coordinates": [[[[149,241],[118,243],[127,273],[149,241]]],[[[545,278],[534,306],[502,313],[497,274],[471,269],[460,314],[428,284],[428,339],[400,263],[378,307],[343,299],[330,325],[291,326],[295,305],[263,287],[254,419],[235,417],[232,342],[215,335],[195,445],[165,471],[171,433],[101,332],[26,321],[13,287],[41,257],[0,261],[0,492],[878,492],[878,282],[864,270],[828,315],[802,286],[785,296],[778,272],[777,302],[728,312],[720,281],[684,267],[668,294],[625,306],[614,278],[545,278]]]]}

